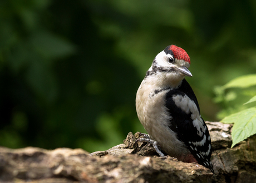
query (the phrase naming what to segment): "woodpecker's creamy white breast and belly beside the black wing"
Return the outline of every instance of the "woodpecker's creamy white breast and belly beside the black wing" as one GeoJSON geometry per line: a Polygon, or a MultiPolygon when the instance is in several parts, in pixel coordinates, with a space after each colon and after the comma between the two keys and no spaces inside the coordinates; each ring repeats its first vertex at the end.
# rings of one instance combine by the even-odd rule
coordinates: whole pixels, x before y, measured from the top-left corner
{"type": "Polygon", "coordinates": [[[161,149],[173,157],[189,153],[176,133],[170,129],[171,116],[165,107],[165,96],[171,89],[157,86],[152,78],[142,81],[136,96],[136,110],[141,124],[152,140],[159,142],[161,149]],[[156,93],[155,90],[160,92],[156,93]]]}

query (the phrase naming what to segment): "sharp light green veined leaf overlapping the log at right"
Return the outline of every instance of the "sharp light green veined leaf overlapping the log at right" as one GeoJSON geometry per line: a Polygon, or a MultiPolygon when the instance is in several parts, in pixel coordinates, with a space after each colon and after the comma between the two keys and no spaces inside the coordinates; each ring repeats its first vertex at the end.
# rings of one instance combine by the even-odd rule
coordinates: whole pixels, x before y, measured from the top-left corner
{"type": "Polygon", "coordinates": [[[234,113],[221,120],[223,123],[234,123],[231,147],[256,133],[256,107],[234,113]]]}

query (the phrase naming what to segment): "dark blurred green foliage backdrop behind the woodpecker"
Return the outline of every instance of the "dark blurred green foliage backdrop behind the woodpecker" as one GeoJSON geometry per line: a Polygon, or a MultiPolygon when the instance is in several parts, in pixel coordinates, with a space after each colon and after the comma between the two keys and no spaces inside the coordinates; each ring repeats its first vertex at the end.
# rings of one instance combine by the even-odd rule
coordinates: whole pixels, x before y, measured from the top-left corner
{"type": "Polygon", "coordinates": [[[218,120],[228,106],[213,88],[255,73],[255,32],[253,0],[2,0],[0,145],[92,152],[144,131],[136,90],[169,44],[189,53],[202,116],[218,120]]]}

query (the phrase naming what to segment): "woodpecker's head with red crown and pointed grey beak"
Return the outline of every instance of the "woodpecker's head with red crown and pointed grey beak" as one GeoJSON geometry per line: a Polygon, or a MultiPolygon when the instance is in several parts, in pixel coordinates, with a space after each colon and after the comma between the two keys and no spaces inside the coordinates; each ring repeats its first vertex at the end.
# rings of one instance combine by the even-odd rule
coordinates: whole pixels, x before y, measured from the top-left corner
{"type": "Polygon", "coordinates": [[[161,80],[172,82],[170,85],[176,86],[185,76],[192,76],[188,70],[189,66],[188,53],[183,48],[170,45],[155,57],[152,66],[147,71],[147,76],[157,75],[161,77],[161,80]]]}

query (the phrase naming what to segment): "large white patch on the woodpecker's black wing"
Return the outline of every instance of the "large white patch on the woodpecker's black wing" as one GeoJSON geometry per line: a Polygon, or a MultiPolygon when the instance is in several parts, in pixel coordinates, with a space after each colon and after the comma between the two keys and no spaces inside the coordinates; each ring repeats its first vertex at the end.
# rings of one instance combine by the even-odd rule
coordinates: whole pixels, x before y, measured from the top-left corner
{"type": "Polygon", "coordinates": [[[191,100],[187,95],[173,95],[173,101],[175,105],[186,114],[191,112],[191,119],[193,120],[193,126],[196,127],[198,135],[202,137],[205,133],[206,127],[204,126],[203,119],[201,118],[198,107],[196,107],[195,102],[191,100]]]}

